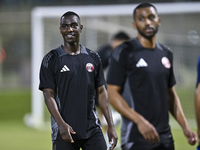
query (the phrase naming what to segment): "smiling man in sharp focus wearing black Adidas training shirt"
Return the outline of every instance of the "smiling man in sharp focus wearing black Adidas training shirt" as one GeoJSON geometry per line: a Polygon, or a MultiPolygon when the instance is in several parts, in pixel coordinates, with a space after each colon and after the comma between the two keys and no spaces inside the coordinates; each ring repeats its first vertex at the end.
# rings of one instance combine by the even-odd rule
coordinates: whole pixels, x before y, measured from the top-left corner
{"type": "Polygon", "coordinates": [[[95,100],[108,123],[113,150],[117,144],[100,57],[79,44],[80,17],[66,12],[60,18],[64,44],[47,53],[40,69],[39,89],[51,114],[53,150],[106,150],[95,100]]]}

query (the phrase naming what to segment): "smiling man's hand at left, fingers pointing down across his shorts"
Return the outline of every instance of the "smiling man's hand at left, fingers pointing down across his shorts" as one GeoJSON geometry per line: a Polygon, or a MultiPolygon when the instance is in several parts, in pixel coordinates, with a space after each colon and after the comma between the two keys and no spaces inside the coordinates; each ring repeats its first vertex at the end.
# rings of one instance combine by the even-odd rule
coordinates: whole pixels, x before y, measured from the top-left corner
{"type": "Polygon", "coordinates": [[[63,140],[74,143],[74,140],[72,139],[71,134],[76,134],[76,132],[74,132],[74,130],[72,129],[70,125],[68,125],[67,123],[59,125],[59,131],[63,140]]]}

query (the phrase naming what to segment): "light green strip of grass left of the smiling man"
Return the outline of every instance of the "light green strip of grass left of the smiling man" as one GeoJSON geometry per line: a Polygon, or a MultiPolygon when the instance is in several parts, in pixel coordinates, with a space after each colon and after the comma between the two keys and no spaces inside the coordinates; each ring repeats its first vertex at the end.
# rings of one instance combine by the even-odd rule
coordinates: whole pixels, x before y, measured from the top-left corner
{"type": "Polygon", "coordinates": [[[0,123],[1,150],[50,150],[49,131],[38,131],[26,127],[23,122],[6,121],[0,123]]]}

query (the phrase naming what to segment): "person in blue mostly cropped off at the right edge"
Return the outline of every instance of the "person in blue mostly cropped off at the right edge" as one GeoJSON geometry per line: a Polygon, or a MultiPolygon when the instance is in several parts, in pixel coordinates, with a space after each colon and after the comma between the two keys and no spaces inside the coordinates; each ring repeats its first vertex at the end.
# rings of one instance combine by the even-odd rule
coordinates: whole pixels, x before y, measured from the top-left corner
{"type": "Polygon", "coordinates": [[[197,63],[197,83],[196,83],[196,92],[195,92],[195,110],[197,118],[197,135],[199,145],[197,150],[200,150],[200,56],[197,63]]]}

